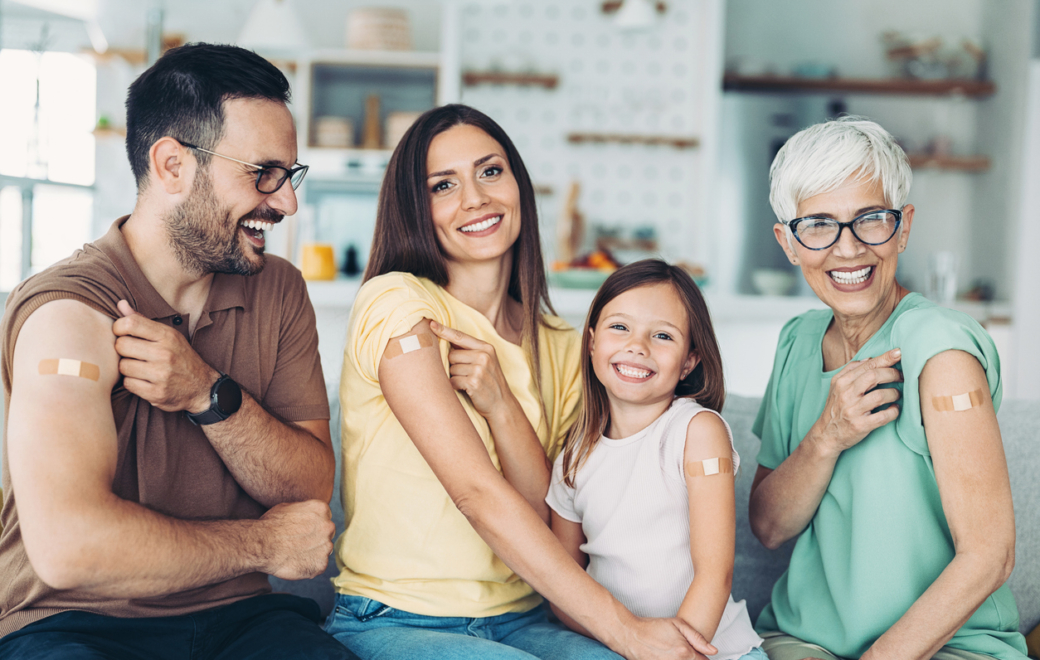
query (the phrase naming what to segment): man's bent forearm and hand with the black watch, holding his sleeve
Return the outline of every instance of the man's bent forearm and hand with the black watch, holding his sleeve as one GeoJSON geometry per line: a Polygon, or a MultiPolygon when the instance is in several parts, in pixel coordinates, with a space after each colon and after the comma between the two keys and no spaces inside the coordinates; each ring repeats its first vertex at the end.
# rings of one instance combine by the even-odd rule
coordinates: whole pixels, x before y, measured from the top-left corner
{"type": "MultiPolygon", "coordinates": [[[[166,412],[202,413],[219,374],[177,331],[120,301],[112,324],[124,387],[166,412]]],[[[265,506],[332,498],[336,459],[328,420],[290,424],[242,392],[241,408],[202,427],[235,480],[265,506]]]]}

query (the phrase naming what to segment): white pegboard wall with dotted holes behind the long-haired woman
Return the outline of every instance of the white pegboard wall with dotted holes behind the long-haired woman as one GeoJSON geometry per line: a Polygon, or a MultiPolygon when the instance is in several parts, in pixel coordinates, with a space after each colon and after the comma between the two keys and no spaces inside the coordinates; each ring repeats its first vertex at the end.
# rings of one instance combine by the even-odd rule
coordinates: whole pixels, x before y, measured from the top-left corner
{"type": "MultiPolygon", "coordinates": [[[[718,45],[704,20],[706,0],[669,0],[657,24],[621,30],[599,0],[463,2],[463,72],[555,74],[554,89],[512,84],[463,86],[462,102],[498,122],[536,185],[543,242],[555,253],[555,222],[571,181],[587,242],[595,227],[622,237],[653,228],[669,259],[698,259],[703,226],[707,49],[718,45]],[[670,144],[572,143],[571,133],[696,138],[670,144]]],[[[710,117],[709,117],[710,118],[710,117]]]]}

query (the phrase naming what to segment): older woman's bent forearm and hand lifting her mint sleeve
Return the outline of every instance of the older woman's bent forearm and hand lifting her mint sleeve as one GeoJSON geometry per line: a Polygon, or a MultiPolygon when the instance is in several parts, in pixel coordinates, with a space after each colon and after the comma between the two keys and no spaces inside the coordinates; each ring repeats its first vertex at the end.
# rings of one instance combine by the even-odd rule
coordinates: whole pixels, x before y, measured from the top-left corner
{"type": "Polygon", "coordinates": [[[831,379],[823,415],[795,451],[776,470],[758,468],[749,518],[751,531],[763,546],[775,550],[802,533],[816,513],[841,452],[899,416],[895,405],[872,413],[898,400],[894,388],[874,388],[902,379],[892,368],[899,361],[899,351],[890,350],[849,363],[831,379]]]}

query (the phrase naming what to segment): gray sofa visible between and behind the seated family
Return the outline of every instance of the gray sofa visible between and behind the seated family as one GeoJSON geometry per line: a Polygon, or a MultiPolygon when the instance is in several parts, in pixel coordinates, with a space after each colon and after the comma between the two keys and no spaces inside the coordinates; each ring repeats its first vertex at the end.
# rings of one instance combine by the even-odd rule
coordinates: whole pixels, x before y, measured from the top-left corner
{"type": "MultiPolygon", "coordinates": [[[[339,438],[339,401],[336,388],[330,388],[332,404],[333,439],[339,438]]],[[[733,429],[736,450],[745,468],[736,481],[736,562],[733,569],[733,598],[745,599],[752,618],[769,602],[774,582],[787,566],[794,543],[771,552],[752,535],[748,524],[748,497],[751,480],[755,474],[755,456],[758,454],[758,439],[751,433],[751,425],[758,412],[759,399],[730,396],[723,414],[733,429]]],[[[1015,571],[1011,576],[1011,590],[1018,602],[1021,616],[1019,630],[1029,632],[1040,623],[1040,516],[1034,506],[1040,507],[1040,403],[1025,401],[1005,401],[998,413],[1000,431],[1004,437],[1008,468],[1011,473],[1011,489],[1015,501],[1015,522],[1018,543],[1016,547],[1015,571]]],[[[338,442],[337,460],[339,459],[338,442]]],[[[339,531],[343,527],[343,509],[340,504],[339,475],[336,477],[336,493],[333,498],[333,517],[339,531]]],[[[286,582],[271,579],[276,591],[290,591],[314,599],[323,612],[332,610],[334,592],[330,579],[336,575],[335,560],[330,560],[329,570],[321,577],[302,582],[286,582]]]]}

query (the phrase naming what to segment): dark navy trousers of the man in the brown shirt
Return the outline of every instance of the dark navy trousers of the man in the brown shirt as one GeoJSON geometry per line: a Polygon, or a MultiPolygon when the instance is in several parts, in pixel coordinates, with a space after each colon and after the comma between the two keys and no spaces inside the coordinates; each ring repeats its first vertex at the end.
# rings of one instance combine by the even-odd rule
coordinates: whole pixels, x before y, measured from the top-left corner
{"type": "Polygon", "coordinates": [[[116,618],[70,611],[0,639],[0,658],[358,660],[321,630],[320,619],[317,603],[287,593],[258,596],[184,616],[116,618]]]}

